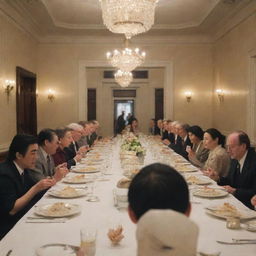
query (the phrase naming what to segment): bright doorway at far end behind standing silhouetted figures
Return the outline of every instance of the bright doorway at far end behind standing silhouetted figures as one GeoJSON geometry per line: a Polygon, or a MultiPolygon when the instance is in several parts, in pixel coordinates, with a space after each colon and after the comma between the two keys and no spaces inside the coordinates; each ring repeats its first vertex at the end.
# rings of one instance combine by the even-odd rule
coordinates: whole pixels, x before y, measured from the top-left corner
{"type": "Polygon", "coordinates": [[[116,131],[117,118],[122,114],[122,111],[125,112],[124,120],[126,121],[126,125],[127,125],[128,114],[130,113],[132,116],[134,116],[134,100],[132,99],[114,100],[114,133],[116,131]]]}

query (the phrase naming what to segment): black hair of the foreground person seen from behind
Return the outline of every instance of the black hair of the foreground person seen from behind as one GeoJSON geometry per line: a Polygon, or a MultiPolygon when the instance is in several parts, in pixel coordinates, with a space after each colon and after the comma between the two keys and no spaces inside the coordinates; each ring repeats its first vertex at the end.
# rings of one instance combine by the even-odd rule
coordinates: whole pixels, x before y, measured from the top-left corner
{"type": "Polygon", "coordinates": [[[133,178],[128,201],[137,219],[150,209],[185,213],[189,207],[188,185],[174,168],[160,163],[151,164],[133,178]]]}

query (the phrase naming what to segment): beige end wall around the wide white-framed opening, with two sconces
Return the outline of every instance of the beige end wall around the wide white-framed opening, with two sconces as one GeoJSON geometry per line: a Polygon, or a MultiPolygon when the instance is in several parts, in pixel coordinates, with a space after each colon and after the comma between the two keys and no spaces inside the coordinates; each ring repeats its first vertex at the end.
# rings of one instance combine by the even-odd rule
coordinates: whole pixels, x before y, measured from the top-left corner
{"type": "MultiPolygon", "coordinates": [[[[39,44],[37,61],[39,128],[56,127],[78,119],[79,62],[94,60],[106,63],[105,53],[118,46],[120,47],[120,45],[107,44],[39,44]],[[46,99],[45,92],[48,88],[56,90],[56,100],[53,103],[49,103],[46,99]]],[[[212,45],[145,45],[140,48],[147,52],[148,62],[173,63],[173,91],[171,93],[174,99],[174,114],[166,118],[200,124],[204,128],[211,126],[212,45]],[[191,90],[194,93],[190,103],[185,100],[185,90],[191,90]]],[[[158,78],[152,83],[158,83],[158,78]]],[[[171,85],[167,85],[167,90],[171,90],[171,85]]],[[[144,99],[142,96],[140,108],[147,113],[148,101],[143,101],[144,99]]],[[[151,104],[153,105],[154,102],[151,104]]],[[[104,126],[104,121],[102,125],[104,126]]],[[[145,123],[141,125],[146,126],[145,123]]]]}

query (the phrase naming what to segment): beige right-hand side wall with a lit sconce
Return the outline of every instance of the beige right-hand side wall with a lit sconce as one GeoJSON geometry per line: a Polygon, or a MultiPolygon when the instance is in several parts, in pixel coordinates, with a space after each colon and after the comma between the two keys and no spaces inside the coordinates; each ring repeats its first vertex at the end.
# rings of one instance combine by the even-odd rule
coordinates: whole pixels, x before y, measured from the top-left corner
{"type": "Polygon", "coordinates": [[[248,130],[249,52],[256,50],[255,28],[256,14],[214,45],[215,89],[224,89],[225,95],[223,102],[214,95],[213,125],[226,134],[248,130]]]}

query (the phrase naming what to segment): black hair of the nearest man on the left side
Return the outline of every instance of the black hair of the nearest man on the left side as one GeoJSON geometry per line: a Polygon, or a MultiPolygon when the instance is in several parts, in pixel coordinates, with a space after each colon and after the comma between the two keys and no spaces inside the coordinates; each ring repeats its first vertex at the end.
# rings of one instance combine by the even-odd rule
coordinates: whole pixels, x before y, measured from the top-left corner
{"type": "Polygon", "coordinates": [[[16,153],[25,156],[30,145],[37,144],[37,138],[28,134],[17,134],[12,139],[7,156],[8,161],[16,159],[16,153]]]}

